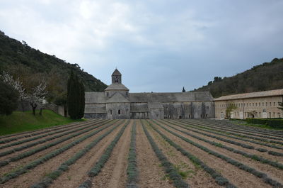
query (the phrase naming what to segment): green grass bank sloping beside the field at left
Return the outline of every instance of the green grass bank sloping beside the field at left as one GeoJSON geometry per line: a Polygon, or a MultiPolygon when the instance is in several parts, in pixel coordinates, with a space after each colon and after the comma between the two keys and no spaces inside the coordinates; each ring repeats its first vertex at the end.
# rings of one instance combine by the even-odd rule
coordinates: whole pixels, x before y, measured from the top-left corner
{"type": "Polygon", "coordinates": [[[0,115],[0,136],[64,125],[74,121],[83,120],[72,120],[50,110],[43,110],[42,116],[38,114],[38,111],[35,116],[33,116],[33,111],[14,111],[9,116],[0,115]]]}

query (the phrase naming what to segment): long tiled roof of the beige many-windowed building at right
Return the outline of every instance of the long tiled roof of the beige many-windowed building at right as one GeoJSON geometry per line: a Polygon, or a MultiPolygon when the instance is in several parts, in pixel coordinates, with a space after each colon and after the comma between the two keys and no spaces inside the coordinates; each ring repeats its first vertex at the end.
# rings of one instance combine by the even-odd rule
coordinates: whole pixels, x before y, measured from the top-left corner
{"type": "Polygon", "coordinates": [[[246,93],[246,94],[233,94],[227,96],[221,96],[219,98],[214,99],[214,101],[225,101],[225,100],[232,100],[232,99],[248,99],[248,98],[257,98],[257,97],[265,97],[265,96],[282,96],[283,89],[275,89],[265,92],[253,92],[253,93],[246,93]]]}

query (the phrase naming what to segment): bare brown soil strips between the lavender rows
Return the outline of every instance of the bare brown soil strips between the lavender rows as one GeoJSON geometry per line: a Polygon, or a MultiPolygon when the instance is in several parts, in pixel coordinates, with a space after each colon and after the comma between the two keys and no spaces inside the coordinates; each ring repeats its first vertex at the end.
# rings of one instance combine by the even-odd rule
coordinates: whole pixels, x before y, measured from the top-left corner
{"type": "MultiPolygon", "coordinates": [[[[169,126],[166,126],[166,124],[169,124],[187,133],[191,133],[195,136],[199,136],[201,138],[205,138],[207,140],[214,141],[216,143],[223,144],[223,145],[229,146],[230,148],[241,150],[246,153],[258,155],[260,157],[265,157],[268,160],[276,161],[276,162],[279,162],[280,164],[283,163],[283,157],[272,156],[272,155],[269,155],[268,153],[260,153],[259,151],[253,150],[253,149],[242,148],[241,146],[233,145],[231,143],[226,143],[224,141],[217,140],[216,138],[204,136],[201,133],[195,133],[193,131],[186,130],[185,128],[181,128],[179,126],[173,125],[173,123],[177,123],[177,124],[180,123],[180,125],[184,126],[186,124],[186,121],[172,121],[172,120],[168,120],[168,121],[169,123],[165,121],[156,121],[156,122],[168,128],[168,130],[173,131],[174,133],[177,133],[180,136],[188,138],[194,141],[195,143],[198,143],[206,148],[209,148],[209,150],[213,150],[233,160],[242,162],[243,164],[248,165],[249,167],[253,167],[255,170],[258,170],[260,172],[265,172],[265,174],[267,174],[268,177],[283,184],[283,180],[282,180],[283,170],[279,170],[278,168],[272,167],[271,165],[262,164],[261,162],[252,160],[247,157],[243,157],[242,155],[239,155],[236,153],[232,153],[228,150],[224,150],[223,148],[219,148],[214,145],[210,145],[209,143],[205,143],[204,141],[199,140],[197,138],[193,138],[192,136],[187,136],[185,133],[181,133],[180,131],[176,131],[173,128],[170,128],[169,126]]],[[[196,124],[203,123],[202,126],[209,125],[211,126],[209,128],[213,128],[213,126],[216,125],[214,121],[212,122],[212,121],[205,121],[205,120],[202,120],[202,121],[190,120],[190,122],[196,123],[196,124]]],[[[81,123],[72,123],[70,124],[69,127],[68,125],[54,127],[51,129],[49,133],[52,133],[56,130],[60,130],[60,128],[74,128],[75,129],[75,128],[79,128],[79,126],[92,125],[92,124],[93,126],[104,124],[103,126],[99,127],[99,128],[103,128],[107,126],[108,123],[112,123],[112,121],[101,121],[97,119],[97,120],[90,120],[90,121],[81,122],[81,123]]],[[[103,131],[100,131],[96,135],[91,136],[90,138],[87,138],[86,140],[83,140],[81,143],[74,145],[73,147],[69,148],[69,150],[64,151],[63,153],[53,157],[52,159],[42,162],[42,164],[37,165],[37,167],[28,170],[23,175],[19,175],[18,177],[14,177],[13,179],[8,180],[8,182],[5,182],[4,184],[0,184],[0,187],[1,188],[2,187],[3,188],[4,187],[5,188],[31,187],[33,184],[40,182],[40,180],[48,176],[50,172],[57,170],[57,168],[62,164],[62,162],[69,160],[70,157],[74,156],[81,149],[85,148],[86,145],[88,145],[89,143],[91,143],[91,141],[98,138],[98,136],[103,135],[104,133],[106,133],[113,127],[117,127],[108,136],[105,136],[105,138],[100,140],[100,142],[96,146],[91,148],[91,150],[89,150],[86,154],[84,154],[81,158],[79,158],[79,160],[77,160],[73,165],[70,165],[69,170],[62,172],[62,175],[57,177],[57,179],[54,179],[52,184],[50,184],[49,186],[52,188],[79,187],[79,185],[82,182],[88,179],[88,171],[91,170],[91,167],[93,167],[93,165],[95,165],[96,162],[100,159],[100,157],[105,152],[105,149],[108,147],[108,145],[110,145],[112,140],[117,136],[117,133],[119,133],[119,131],[121,130],[122,126],[125,125],[125,123],[126,123],[126,120],[120,120],[120,121],[115,122],[112,126],[105,128],[103,131]]],[[[136,126],[137,128],[136,129],[136,151],[137,151],[137,170],[138,170],[137,186],[139,188],[173,188],[174,187],[172,179],[170,179],[168,175],[166,175],[166,172],[164,171],[164,168],[161,165],[161,162],[158,160],[156,153],[154,153],[154,150],[151,148],[151,144],[149,143],[149,140],[146,138],[146,135],[141,126],[141,120],[130,120],[129,121],[129,124],[127,125],[127,128],[122,134],[120,140],[117,142],[117,144],[115,145],[115,148],[112,150],[110,158],[108,159],[107,162],[105,162],[105,165],[103,166],[99,174],[92,179],[93,187],[103,187],[103,188],[127,187],[127,165],[128,165],[128,155],[129,155],[129,144],[130,144],[131,134],[132,134],[131,130],[132,130],[132,126],[134,125],[134,123],[136,123],[137,125],[136,126]]],[[[238,167],[231,165],[224,160],[221,160],[219,157],[210,155],[204,150],[201,150],[200,148],[197,148],[194,145],[191,145],[190,143],[185,142],[181,138],[174,136],[173,134],[164,130],[160,126],[156,125],[154,121],[143,120],[143,123],[147,131],[149,131],[149,134],[151,135],[151,137],[154,138],[154,142],[156,143],[156,145],[158,145],[158,148],[162,150],[163,154],[166,155],[168,161],[173,164],[173,166],[175,167],[175,170],[177,170],[177,172],[183,176],[183,180],[187,182],[187,184],[189,184],[190,187],[198,187],[198,188],[214,188],[215,187],[216,188],[216,187],[224,187],[224,186],[220,186],[219,184],[217,184],[215,179],[211,175],[209,175],[207,172],[205,172],[202,169],[202,167],[195,165],[195,163],[193,163],[188,157],[186,157],[185,155],[180,153],[180,151],[173,148],[173,146],[171,146],[166,140],[164,140],[160,136],[160,134],[154,131],[154,128],[149,126],[148,123],[151,123],[152,126],[157,128],[159,131],[161,131],[161,133],[163,133],[165,136],[173,140],[173,142],[180,145],[180,147],[187,150],[187,152],[191,153],[192,155],[195,155],[195,157],[202,160],[207,166],[212,167],[214,170],[216,170],[216,172],[221,173],[223,177],[228,179],[229,182],[231,182],[232,184],[236,185],[236,187],[243,187],[243,188],[250,188],[250,187],[257,187],[257,188],[260,188],[260,187],[269,188],[270,187],[271,188],[272,187],[270,184],[267,184],[259,177],[255,177],[255,175],[252,175],[249,172],[241,170],[238,167]]],[[[245,128],[243,127],[243,134],[245,132],[245,128]]],[[[200,131],[195,128],[192,128],[192,129],[196,131],[200,131]]],[[[216,127],[216,130],[217,129],[219,129],[219,127],[216,127]]],[[[40,136],[41,134],[45,134],[43,133],[45,130],[50,130],[50,129],[34,131],[33,133],[40,133],[40,134],[36,136],[30,136],[27,138],[33,138],[33,137],[40,136]]],[[[88,133],[91,133],[92,131],[95,131],[95,130],[97,129],[93,129],[91,131],[88,131],[87,133],[81,134],[80,136],[76,136],[74,138],[66,140],[63,143],[54,145],[51,148],[42,150],[39,153],[35,153],[34,155],[25,157],[16,162],[10,162],[10,164],[4,167],[0,167],[1,179],[3,179],[3,177],[5,177],[11,172],[16,172],[16,170],[20,170],[23,166],[27,165],[28,163],[33,162],[34,160],[37,160],[38,158],[44,155],[47,155],[54,150],[62,148],[64,145],[67,145],[68,143],[71,143],[72,141],[78,138],[81,138],[82,136],[86,136],[88,133]]],[[[254,131],[255,131],[255,134],[257,134],[256,130],[254,131]]],[[[206,133],[204,131],[200,131],[200,132],[206,133]]],[[[231,132],[233,132],[232,129],[231,129],[231,132]]],[[[277,132],[277,134],[281,134],[281,133],[282,132],[280,131],[277,132]]],[[[16,138],[19,136],[27,136],[29,134],[30,133],[21,133],[21,134],[18,133],[10,137],[0,138],[0,140],[5,140],[8,138],[16,138]]],[[[213,133],[209,133],[209,134],[214,135],[213,133]]],[[[54,134],[54,136],[55,135],[57,134],[54,134]]],[[[262,133],[261,134],[258,133],[258,138],[262,138],[261,136],[262,136],[262,133]]],[[[50,136],[47,136],[46,138],[48,137],[50,136]]],[[[61,138],[64,138],[64,137],[66,136],[63,136],[61,138]]],[[[219,136],[219,137],[226,138],[229,140],[234,140],[239,143],[246,143],[242,140],[227,138],[225,136],[219,136]]],[[[47,141],[46,143],[42,143],[42,144],[33,146],[31,148],[26,148],[16,153],[6,155],[4,157],[0,157],[0,164],[2,161],[7,160],[9,157],[16,156],[28,150],[33,150],[37,147],[40,147],[41,145],[45,145],[47,143],[53,142],[61,138],[56,138],[54,140],[47,141]]],[[[18,140],[24,140],[24,139],[26,138],[21,138],[18,140]]],[[[42,140],[42,139],[43,138],[38,139],[38,140],[42,140]]],[[[10,143],[16,142],[18,140],[11,141],[10,143]]],[[[36,142],[36,140],[30,141],[28,143],[33,143],[33,142],[36,142]]],[[[23,143],[21,145],[25,145],[25,144],[26,143],[23,143]]],[[[246,144],[253,145],[255,148],[266,148],[267,150],[274,150],[279,153],[283,153],[283,150],[280,150],[280,149],[270,148],[267,146],[257,145],[254,143],[246,143],[246,144]]],[[[0,144],[0,146],[1,145],[5,145],[5,144],[0,144]]],[[[6,150],[17,148],[21,145],[14,145],[8,148],[0,149],[0,153],[6,150]]],[[[283,147],[283,145],[279,145],[279,146],[283,147]]]]}

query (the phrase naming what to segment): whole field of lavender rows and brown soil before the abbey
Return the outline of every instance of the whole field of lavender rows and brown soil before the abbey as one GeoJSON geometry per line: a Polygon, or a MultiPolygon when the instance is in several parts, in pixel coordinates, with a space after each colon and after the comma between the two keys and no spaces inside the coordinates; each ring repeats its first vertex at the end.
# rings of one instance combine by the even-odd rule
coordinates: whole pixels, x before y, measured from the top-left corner
{"type": "Polygon", "coordinates": [[[260,152],[205,136],[198,126],[283,142],[283,131],[265,135],[265,129],[221,120],[90,119],[0,137],[0,188],[283,187],[282,144],[258,141],[279,147],[272,148],[219,136],[267,150],[260,152]],[[197,125],[189,128],[200,133],[185,125],[197,125]]]}

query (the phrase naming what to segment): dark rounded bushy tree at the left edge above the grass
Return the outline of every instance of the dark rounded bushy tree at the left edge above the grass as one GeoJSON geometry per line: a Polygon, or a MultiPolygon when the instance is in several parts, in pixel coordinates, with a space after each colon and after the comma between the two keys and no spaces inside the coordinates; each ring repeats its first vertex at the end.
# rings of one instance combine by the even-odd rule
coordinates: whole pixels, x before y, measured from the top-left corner
{"type": "Polygon", "coordinates": [[[0,114],[10,115],[18,108],[18,92],[0,81],[0,114]]]}

